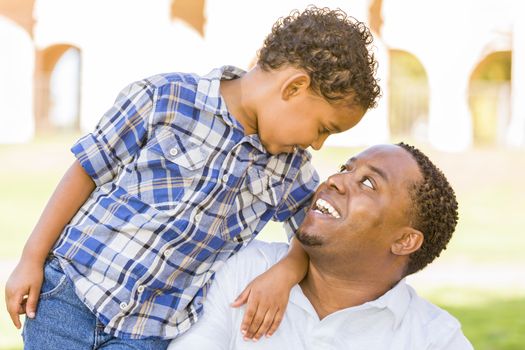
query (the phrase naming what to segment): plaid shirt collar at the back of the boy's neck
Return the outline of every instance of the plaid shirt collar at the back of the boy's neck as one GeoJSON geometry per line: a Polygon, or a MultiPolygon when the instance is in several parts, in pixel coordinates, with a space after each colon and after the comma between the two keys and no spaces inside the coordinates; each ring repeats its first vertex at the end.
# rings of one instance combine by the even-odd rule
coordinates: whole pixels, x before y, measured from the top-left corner
{"type": "Polygon", "coordinates": [[[199,79],[197,85],[197,96],[195,98],[195,107],[212,113],[222,115],[228,123],[237,125],[238,122],[232,118],[226,103],[221,96],[221,80],[231,80],[242,77],[246,72],[234,66],[222,66],[209,72],[199,79]]]}

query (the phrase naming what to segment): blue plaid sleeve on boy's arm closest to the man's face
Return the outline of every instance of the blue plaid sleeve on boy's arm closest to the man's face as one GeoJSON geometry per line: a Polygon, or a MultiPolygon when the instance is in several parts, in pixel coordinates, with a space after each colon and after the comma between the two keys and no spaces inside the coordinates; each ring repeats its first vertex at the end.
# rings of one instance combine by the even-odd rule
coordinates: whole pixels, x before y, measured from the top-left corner
{"type": "Polygon", "coordinates": [[[284,221],[284,229],[288,240],[293,238],[295,231],[303,222],[318,185],[319,175],[310,160],[307,159],[300,168],[290,193],[273,217],[275,221],[284,221]]]}

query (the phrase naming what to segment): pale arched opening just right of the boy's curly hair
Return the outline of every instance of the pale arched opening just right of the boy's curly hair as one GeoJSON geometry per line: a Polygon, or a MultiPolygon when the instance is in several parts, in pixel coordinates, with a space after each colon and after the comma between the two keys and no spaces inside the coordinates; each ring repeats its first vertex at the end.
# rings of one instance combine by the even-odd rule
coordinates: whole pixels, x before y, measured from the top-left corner
{"type": "Polygon", "coordinates": [[[390,50],[390,133],[395,138],[426,139],[428,77],[413,54],[390,50]]]}

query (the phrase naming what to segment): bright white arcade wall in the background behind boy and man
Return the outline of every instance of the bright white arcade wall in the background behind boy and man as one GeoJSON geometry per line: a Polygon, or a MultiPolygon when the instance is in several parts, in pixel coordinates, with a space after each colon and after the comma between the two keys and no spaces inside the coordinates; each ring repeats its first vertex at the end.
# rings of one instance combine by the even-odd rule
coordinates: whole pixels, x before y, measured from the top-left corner
{"type": "MultiPolygon", "coordinates": [[[[111,106],[120,89],[132,81],[168,71],[205,74],[223,64],[247,68],[274,21],[311,2],[206,0],[205,35],[201,37],[183,21],[171,20],[170,0],[36,0],[34,45],[43,49],[71,44],[81,50],[80,118],[82,129],[88,131],[111,106]]],[[[327,0],[315,4],[340,7],[360,20],[368,20],[369,0],[327,0]]],[[[523,25],[515,18],[519,13],[523,17],[523,7],[520,0],[383,0],[382,37],[375,41],[383,97],[378,108],[369,111],[355,129],[332,137],[328,144],[368,145],[388,140],[388,49],[401,49],[417,56],[428,74],[432,144],[447,150],[470,147],[472,118],[467,88],[472,69],[490,52],[514,46],[514,116],[508,139],[513,140],[509,143],[523,145],[525,117],[520,115],[525,110],[525,98],[519,97],[525,89],[525,60],[523,39],[518,41],[523,38],[523,29],[519,29],[523,25]],[[514,30],[520,31],[512,42],[514,30]]],[[[520,20],[523,23],[523,18],[520,20]]],[[[23,131],[17,140],[21,141],[29,139],[34,128],[28,112],[32,108],[32,89],[27,86],[33,73],[34,53],[29,50],[27,35],[6,26],[4,21],[0,28],[2,38],[10,37],[8,31],[16,31],[21,39],[2,39],[7,40],[7,46],[2,47],[16,46],[18,50],[16,67],[7,70],[19,71],[17,76],[24,78],[17,84],[25,85],[14,92],[9,83],[0,81],[0,89],[10,93],[0,94],[0,101],[3,105],[15,98],[24,101],[18,104],[27,109],[21,111],[18,107],[21,124],[17,130],[23,131]]],[[[6,70],[6,64],[1,62],[7,59],[2,55],[0,69],[6,70]]],[[[0,116],[0,122],[1,118],[6,117],[0,116]]],[[[14,131],[10,125],[14,124],[4,125],[5,135],[0,134],[0,142],[11,142],[9,137],[14,131]]]]}

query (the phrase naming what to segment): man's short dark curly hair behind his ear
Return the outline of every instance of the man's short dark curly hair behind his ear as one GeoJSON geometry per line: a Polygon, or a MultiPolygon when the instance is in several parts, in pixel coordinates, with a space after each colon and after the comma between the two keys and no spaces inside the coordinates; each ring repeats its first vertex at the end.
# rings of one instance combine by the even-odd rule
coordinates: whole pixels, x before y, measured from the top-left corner
{"type": "Polygon", "coordinates": [[[458,202],[445,175],[423,152],[403,142],[397,145],[412,155],[423,176],[410,188],[412,226],[424,236],[421,248],[410,254],[406,269],[406,275],[410,275],[446,249],[458,222],[458,202]]]}

